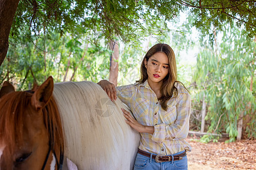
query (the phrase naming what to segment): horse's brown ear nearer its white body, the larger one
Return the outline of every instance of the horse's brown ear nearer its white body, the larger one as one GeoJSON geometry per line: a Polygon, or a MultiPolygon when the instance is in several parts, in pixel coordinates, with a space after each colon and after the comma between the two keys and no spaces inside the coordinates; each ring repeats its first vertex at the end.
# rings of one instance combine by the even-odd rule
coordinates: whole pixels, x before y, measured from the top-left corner
{"type": "Polygon", "coordinates": [[[39,86],[33,94],[31,99],[32,106],[34,106],[37,111],[42,109],[51,99],[52,92],[53,79],[52,76],[49,76],[49,78],[41,86],[39,86]]]}

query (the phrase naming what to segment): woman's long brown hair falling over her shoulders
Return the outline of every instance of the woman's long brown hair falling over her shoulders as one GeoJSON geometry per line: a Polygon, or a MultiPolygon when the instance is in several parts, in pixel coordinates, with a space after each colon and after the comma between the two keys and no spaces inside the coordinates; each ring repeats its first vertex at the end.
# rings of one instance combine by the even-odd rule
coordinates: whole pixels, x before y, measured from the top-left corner
{"type": "MultiPolygon", "coordinates": [[[[148,59],[154,55],[155,53],[163,52],[168,57],[169,67],[168,67],[168,74],[163,79],[162,87],[160,88],[161,97],[158,99],[160,101],[161,107],[167,111],[167,101],[171,99],[172,96],[177,97],[178,91],[177,88],[174,86],[175,83],[180,83],[184,86],[183,83],[177,81],[177,67],[176,67],[176,59],[174,50],[172,50],[171,46],[167,44],[155,44],[148,50],[146,55],[144,56],[142,63],[141,63],[141,78],[137,81],[138,84],[144,83],[147,78],[147,69],[144,65],[144,60],[148,61],[148,59]]],[[[185,86],[184,86],[185,88],[185,86]]],[[[187,90],[187,88],[185,88],[187,90]]],[[[188,90],[187,90],[188,91],[188,90]]]]}

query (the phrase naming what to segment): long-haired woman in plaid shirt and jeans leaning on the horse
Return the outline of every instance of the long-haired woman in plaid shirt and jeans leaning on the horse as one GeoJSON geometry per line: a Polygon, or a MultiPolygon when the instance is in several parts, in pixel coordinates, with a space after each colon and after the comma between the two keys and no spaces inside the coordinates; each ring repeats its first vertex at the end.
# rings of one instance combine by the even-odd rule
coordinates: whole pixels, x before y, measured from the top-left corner
{"type": "Polygon", "coordinates": [[[136,84],[114,87],[107,80],[98,84],[113,101],[123,101],[133,112],[122,109],[126,123],[141,133],[134,169],[188,169],[185,141],[189,129],[191,99],[177,81],[175,54],[167,44],[156,44],[141,64],[136,84]]]}

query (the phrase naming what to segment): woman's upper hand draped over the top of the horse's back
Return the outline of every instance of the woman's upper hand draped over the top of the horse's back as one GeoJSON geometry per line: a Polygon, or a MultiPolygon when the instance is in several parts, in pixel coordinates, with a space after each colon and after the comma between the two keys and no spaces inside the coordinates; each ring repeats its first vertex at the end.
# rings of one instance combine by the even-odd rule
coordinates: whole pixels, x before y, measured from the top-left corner
{"type": "Polygon", "coordinates": [[[117,91],[113,83],[110,83],[108,80],[101,80],[97,84],[108,94],[111,101],[117,100],[117,91]]]}

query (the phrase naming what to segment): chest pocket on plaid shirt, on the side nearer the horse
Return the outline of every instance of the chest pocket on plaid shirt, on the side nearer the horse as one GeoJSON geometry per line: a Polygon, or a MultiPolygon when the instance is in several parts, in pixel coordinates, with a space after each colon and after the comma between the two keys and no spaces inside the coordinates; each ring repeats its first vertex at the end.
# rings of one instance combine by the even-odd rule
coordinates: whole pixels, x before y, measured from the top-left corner
{"type": "Polygon", "coordinates": [[[150,107],[150,100],[136,97],[133,100],[133,107],[138,117],[146,116],[148,114],[148,108],[150,107]]]}

